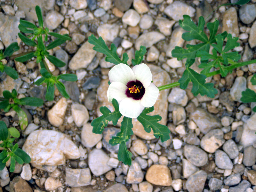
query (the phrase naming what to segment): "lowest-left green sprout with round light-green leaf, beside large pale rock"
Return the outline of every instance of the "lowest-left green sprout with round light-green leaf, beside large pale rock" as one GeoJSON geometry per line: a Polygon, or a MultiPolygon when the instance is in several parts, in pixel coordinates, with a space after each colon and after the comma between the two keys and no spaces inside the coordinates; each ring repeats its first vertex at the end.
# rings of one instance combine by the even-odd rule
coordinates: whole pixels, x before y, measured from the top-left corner
{"type": "Polygon", "coordinates": [[[5,163],[11,158],[10,172],[15,169],[15,163],[23,164],[29,163],[31,158],[29,155],[19,148],[18,143],[13,146],[13,141],[20,137],[20,132],[14,128],[10,127],[7,129],[6,124],[0,121],[0,144],[1,148],[4,148],[0,153],[0,170],[3,170],[5,163]],[[12,138],[13,137],[13,138],[12,138]]]}

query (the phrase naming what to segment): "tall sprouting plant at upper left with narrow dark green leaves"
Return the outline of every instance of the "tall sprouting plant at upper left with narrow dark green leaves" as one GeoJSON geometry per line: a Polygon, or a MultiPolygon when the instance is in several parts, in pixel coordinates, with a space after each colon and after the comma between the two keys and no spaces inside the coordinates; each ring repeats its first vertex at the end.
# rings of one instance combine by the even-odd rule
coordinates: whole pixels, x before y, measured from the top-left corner
{"type": "Polygon", "coordinates": [[[60,93],[65,97],[69,98],[68,93],[66,92],[66,88],[62,82],[59,80],[65,80],[65,81],[77,81],[77,76],[75,74],[62,74],[59,76],[54,76],[50,69],[48,68],[48,65],[45,61],[45,58],[47,58],[52,64],[54,64],[56,67],[64,67],[66,63],[59,60],[55,56],[50,55],[48,50],[53,49],[54,47],[57,47],[63,43],[66,42],[66,40],[71,40],[71,38],[68,36],[68,34],[60,35],[58,33],[49,32],[48,28],[44,28],[44,22],[43,22],[43,16],[42,11],[39,6],[36,6],[36,15],[38,18],[38,24],[39,27],[36,27],[33,23],[30,23],[26,20],[20,20],[19,29],[24,34],[30,34],[28,36],[23,35],[22,33],[19,33],[20,39],[27,44],[28,46],[36,47],[36,51],[21,53],[19,55],[14,55],[11,58],[14,58],[16,61],[19,62],[25,62],[33,57],[36,57],[36,62],[40,63],[41,67],[41,77],[38,79],[35,84],[41,85],[43,83],[46,83],[47,85],[47,91],[45,95],[46,100],[53,100],[54,99],[54,85],[56,85],[57,89],[60,91],[60,93]],[[57,39],[53,42],[49,43],[47,46],[44,45],[44,42],[48,41],[48,35],[54,36],[57,39]],[[30,39],[29,37],[32,37],[30,39]],[[37,42],[35,41],[37,39],[37,42]]]}

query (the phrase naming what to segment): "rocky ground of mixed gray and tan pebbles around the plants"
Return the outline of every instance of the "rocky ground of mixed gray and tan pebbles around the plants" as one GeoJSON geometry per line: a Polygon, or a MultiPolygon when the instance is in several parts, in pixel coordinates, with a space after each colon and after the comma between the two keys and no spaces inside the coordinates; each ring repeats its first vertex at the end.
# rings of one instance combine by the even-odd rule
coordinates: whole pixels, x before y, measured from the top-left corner
{"type": "MultiPolygon", "coordinates": [[[[235,2],[236,0],[231,0],[235,2]]],[[[25,107],[28,127],[21,131],[14,111],[0,111],[1,120],[21,132],[18,140],[31,163],[9,164],[0,171],[0,192],[253,192],[256,191],[255,103],[240,102],[250,83],[256,63],[233,70],[225,78],[207,79],[219,90],[214,99],[194,97],[191,86],[161,91],[153,114],[160,114],[170,131],[170,140],[161,143],[133,120],[132,165],[117,159],[118,146],[108,140],[118,126],[109,126],[102,135],[92,133],[92,119],[99,108],[113,109],[107,100],[108,71],[113,64],[92,50],[88,36],[102,36],[114,43],[128,63],[140,45],[146,46],[144,63],[150,66],[157,86],[177,81],[185,70],[184,61],[172,58],[175,46],[184,46],[184,32],[178,21],[187,14],[197,21],[229,0],[1,0],[0,49],[20,43],[20,19],[37,24],[35,6],[42,7],[44,23],[51,31],[72,37],[51,54],[67,63],[57,68],[48,62],[53,74],[74,73],[77,82],[65,82],[70,99],[55,90],[55,99],[42,107],[25,107]]],[[[255,59],[256,1],[243,6],[222,6],[207,21],[220,20],[218,32],[239,37],[236,47],[242,61],[255,59]]],[[[196,42],[190,42],[196,43],[196,42]]],[[[20,43],[20,51],[32,48],[20,43]]],[[[9,61],[19,72],[13,80],[1,73],[3,90],[15,88],[19,98],[44,99],[45,86],[33,83],[40,78],[35,60],[9,61]]],[[[197,62],[198,65],[198,62],[197,62]]],[[[194,70],[200,71],[196,65],[194,70]]]]}

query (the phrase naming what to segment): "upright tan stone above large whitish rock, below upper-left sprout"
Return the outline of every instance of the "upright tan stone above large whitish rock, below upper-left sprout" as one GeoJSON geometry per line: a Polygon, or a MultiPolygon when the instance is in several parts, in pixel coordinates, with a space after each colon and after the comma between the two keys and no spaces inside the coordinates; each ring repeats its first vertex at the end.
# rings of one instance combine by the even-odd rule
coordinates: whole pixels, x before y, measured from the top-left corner
{"type": "Polygon", "coordinates": [[[67,100],[62,97],[49,111],[48,111],[48,120],[50,124],[55,127],[59,127],[64,122],[65,113],[67,110],[67,100]]]}

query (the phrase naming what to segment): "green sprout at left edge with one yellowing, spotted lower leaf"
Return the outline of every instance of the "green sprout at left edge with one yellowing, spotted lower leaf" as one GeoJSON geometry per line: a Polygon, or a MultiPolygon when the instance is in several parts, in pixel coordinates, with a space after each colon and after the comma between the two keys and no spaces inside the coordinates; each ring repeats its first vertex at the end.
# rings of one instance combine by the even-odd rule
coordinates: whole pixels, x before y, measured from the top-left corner
{"type": "Polygon", "coordinates": [[[40,107],[44,104],[44,100],[37,97],[24,97],[18,99],[16,89],[13,89],[12,92],[9,92],[8,90],[3,91],[3,96],[4,98],[0,98],[0,100],[2,100],[0,102],[0,109],[4,109],[4,112],[8,112],[11,108],[16,111],[22,130],[28,126],[28,118],[19,105],[40,107]]]}

